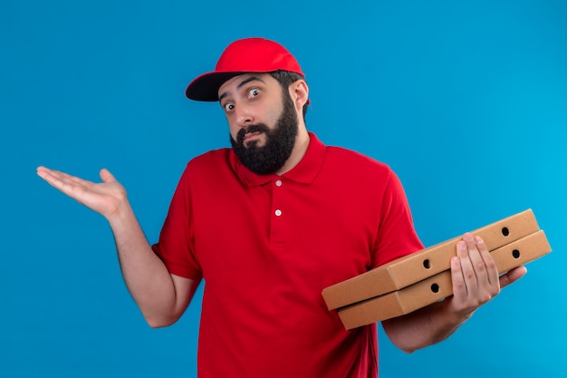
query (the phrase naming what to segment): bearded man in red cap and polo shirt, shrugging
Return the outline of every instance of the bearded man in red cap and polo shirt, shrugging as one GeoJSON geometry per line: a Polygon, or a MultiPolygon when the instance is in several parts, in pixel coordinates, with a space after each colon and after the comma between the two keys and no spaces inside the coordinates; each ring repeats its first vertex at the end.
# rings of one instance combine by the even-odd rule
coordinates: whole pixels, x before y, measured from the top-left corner
{"type": "MultiPolygon", "coordinates": [[[[149,325],[176,322],[204,278],[199,377],[376,377],[377,325],[345,331],[321,292],[423,247],[399,179],[307,131],[309,88],[280,44],[230,44],[186,93],[220,102],[232,149],[187,164],[157,244],[108,170],[96,184],[43,167],[38,174],[108,219],[149,325]]],[[[454,296],[382,322],[402,350],[447,338],[525,273],[499,278],[483,241],[469,234],[456,255],[454,296]]]]}

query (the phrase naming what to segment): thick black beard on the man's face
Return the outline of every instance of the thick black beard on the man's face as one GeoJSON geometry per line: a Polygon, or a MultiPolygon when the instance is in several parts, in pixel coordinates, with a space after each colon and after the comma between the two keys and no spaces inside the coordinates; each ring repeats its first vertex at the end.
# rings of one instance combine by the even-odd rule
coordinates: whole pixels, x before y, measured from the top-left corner
{"type": "Polygon", "coordinates": [[[283,91],[283,111],[273,129],[264,123],[250,125],[236,134],[236,140],[230,136],[230,143],[240,162],[258,175],[267,175],[280,170],[292,155],[297,138],[299,121],[293,107],[290,94],[283,91]],[[263,132],[264,146],[258,141],[250,141],[245,146],[245,135],[250,132],[263,132]]]}

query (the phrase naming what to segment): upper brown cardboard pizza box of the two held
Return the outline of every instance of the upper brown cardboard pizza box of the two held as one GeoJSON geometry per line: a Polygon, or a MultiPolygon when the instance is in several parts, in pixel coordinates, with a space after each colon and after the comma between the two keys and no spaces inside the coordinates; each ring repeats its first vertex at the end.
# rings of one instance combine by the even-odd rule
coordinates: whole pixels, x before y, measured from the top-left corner
{"type": "MultiPolygon", "coordinates": [[[[488,250],[492,251],[537,230],[539,226],[533,211],[527,209],[484,228],[478,228],[472,233],[482,237],[488,250]]],[[[455,237],[326,287],[322,290],[323,299],[330,310],[337,309],[435,276],[449,268],[451,257],[456,256],[456,243],[461,239],[462,236],[455,237]]]]}

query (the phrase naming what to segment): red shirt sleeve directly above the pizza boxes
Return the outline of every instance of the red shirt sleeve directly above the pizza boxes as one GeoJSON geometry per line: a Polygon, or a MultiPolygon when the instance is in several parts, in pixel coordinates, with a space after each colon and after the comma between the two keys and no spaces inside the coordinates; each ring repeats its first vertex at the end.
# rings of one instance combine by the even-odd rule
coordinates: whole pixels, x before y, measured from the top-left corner
{"type": "Polygon", "coordinates": [[[380,267],[423,249],[414,228],[406,193],[390,170],[380,207],[380,226],[374,246],[373,267],[380,267]]]}

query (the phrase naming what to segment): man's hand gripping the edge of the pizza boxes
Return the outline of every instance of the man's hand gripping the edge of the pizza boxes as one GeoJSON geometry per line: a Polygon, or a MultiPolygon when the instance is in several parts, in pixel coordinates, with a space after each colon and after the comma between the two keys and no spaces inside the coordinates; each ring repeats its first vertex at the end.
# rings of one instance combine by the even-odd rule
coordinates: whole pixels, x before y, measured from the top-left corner
{"type": "Polygon", "coordinates": [[[449,307],[456,314],[469,317],[475,310],[500,293],[504,286],[524,276],[525,267],[517,267],[498,276],[495,261],[480,237],[465,234],[456,245],[451,260],[453,296],[449,307]]]}

